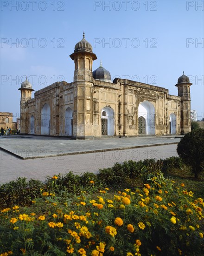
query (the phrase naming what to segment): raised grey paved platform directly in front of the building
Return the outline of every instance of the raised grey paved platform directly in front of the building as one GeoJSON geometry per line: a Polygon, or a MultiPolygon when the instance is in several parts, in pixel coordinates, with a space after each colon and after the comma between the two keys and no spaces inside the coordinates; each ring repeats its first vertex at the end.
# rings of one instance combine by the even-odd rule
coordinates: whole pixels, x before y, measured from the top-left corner
{"type": "Polygon", "coordinates": [[[178,143],[176,136],[102,137],[70,140],[46,136],[0,136],[0,149],[21,159],[45,158],[178,143]]]}

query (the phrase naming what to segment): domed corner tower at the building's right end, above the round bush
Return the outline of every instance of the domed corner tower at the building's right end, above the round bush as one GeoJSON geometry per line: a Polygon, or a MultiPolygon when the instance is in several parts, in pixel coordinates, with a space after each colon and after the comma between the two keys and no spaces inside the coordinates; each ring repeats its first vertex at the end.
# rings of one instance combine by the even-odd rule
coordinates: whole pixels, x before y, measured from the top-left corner
{"type": "Polygon", "coordinates": [[[180,129],[182,135],[191,131],[191,85],[192,83],[190,83],[189,77],[184,72],[178,78],[178,83],[175,85],[178,87],[178,96],[181,97],[180,129]]]}

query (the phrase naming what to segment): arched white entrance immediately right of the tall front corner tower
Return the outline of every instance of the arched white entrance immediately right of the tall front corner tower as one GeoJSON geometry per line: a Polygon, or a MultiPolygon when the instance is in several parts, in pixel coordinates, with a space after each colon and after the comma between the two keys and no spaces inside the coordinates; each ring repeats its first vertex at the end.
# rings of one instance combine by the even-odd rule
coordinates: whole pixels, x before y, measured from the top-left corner
{"type": "Polygon", "coordinates": [[[114,110],[110,107],[102,108],[101,111],[101,128],[102,135],[113,136],[115,133],[114,128],[114,110]]]}

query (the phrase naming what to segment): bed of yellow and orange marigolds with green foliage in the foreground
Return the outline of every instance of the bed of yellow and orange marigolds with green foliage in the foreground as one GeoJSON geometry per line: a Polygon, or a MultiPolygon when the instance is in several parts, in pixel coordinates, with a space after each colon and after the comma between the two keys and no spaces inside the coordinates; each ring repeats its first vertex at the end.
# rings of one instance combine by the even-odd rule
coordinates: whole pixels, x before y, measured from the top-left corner
{"type": "Polygon", "coordinates": [[[97,197],[42,190],[31,207],[2,209],[0,254],[203,255],[203,199],[159,175],[143,187],[114,194],[106,189],[97,197]]]}

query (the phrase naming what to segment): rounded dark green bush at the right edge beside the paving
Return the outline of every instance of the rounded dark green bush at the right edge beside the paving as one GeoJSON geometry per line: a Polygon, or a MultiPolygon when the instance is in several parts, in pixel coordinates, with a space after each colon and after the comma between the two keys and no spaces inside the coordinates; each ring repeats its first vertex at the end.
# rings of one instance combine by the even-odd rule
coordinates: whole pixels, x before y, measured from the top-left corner
{"type": "Polygon", "coordinates": [[[204,129],[186,134],[178,143],[177,153],[192,168],[195,178],[204,170],[204,129]]]}

